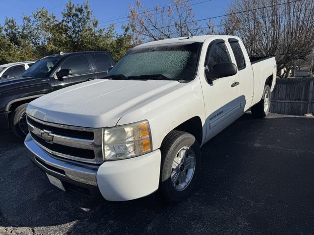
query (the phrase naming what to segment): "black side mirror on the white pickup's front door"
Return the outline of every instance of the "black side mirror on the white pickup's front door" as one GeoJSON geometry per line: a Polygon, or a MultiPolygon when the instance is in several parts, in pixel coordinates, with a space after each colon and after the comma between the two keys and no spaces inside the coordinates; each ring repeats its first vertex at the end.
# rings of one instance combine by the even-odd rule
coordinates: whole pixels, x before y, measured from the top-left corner
{"type": "Polygon", "coordinates": [[[207,80],[212,82],[220,77],[229,77],[233,76],[237,73],[237,67],[234,63],[231,62],[222,62],[216,64],[212,67],[212,71],[210,72],[208,69],[209,65],[205,69],[205,75],[207,80]]]}

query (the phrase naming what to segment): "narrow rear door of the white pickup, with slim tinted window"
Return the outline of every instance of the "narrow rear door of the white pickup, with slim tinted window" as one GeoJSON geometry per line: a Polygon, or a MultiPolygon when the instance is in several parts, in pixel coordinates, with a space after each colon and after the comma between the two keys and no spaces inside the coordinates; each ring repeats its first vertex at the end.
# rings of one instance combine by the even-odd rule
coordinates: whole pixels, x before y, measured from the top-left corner
{"type": "Polygon", "coordinates": [[[244,111],[251,107],[254,92],[254,75],[250,64],[250,58],[246,52],[244,45],[235,38],[229,38],[228,42],[231,51],[235,57],[235,64],[238,69],[238,77],[240,81],[240,94],[244,95],[245,100],[242,102],[244,111]]]}

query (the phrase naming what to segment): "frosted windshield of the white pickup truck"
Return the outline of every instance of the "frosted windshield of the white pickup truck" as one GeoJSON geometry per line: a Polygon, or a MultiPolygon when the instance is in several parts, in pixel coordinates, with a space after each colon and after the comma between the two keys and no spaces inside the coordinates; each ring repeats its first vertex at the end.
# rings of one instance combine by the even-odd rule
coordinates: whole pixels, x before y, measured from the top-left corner
{"type": "Polygon", "coordinates": [[[185,80],[194,78],[201,43],[173,43],[131,49],[106,77],[185,80]]]}

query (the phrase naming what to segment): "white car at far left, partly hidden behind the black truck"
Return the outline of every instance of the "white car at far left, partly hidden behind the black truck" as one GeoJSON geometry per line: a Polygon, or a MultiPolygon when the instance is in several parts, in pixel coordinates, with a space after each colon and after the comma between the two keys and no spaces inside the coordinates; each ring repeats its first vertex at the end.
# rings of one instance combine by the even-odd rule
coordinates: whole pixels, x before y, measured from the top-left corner
{"type": "Polygon", "coordinates": [[[0,78],[13,78],[21,75],[36,61],[24,61],[0,65],[0,78]]]}

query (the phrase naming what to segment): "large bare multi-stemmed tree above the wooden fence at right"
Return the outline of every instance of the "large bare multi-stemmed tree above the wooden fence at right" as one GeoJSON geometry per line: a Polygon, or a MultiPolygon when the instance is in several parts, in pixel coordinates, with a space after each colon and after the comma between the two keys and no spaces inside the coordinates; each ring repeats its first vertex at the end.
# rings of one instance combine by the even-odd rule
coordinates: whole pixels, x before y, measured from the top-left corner
{"type": "Polygon", "coordinates": [[[251,56],[276,55],[286,77],[314,49],[313,0],[234,0],[228,13],[222,31],[239,36],[251,56]]]}

